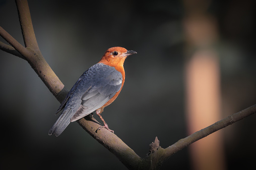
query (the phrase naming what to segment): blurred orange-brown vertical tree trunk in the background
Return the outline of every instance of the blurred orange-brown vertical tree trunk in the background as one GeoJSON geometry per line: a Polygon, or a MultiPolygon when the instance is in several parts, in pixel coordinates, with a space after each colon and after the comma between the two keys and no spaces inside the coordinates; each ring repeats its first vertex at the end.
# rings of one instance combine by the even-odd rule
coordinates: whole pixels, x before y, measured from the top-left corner
{"type": "MultiPolygon", "coordinates": [[[[185,91],[188,134],[221,118],[217,23],[207,14],[210,1],[183,1],[185,17],[185,91]]],[[[194,169],[225,169],[220,131],[189,146],[194,169]]]]}

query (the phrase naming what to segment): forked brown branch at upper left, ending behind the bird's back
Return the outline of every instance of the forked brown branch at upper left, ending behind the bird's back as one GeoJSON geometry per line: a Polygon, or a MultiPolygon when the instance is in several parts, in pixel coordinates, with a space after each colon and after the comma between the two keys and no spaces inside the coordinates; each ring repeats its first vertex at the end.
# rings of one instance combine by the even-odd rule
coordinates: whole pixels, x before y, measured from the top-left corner
{"type": "MultiPolygon", "coordinates": [[[[27,48],[23,47],[17,40],[15,40],[8,32],[0,27],[0,35],[16,49],[28,61],[30,66],[34,69],[37,75],[41,78],[44,84],[48,87],[50,92],[61,102],[68,90],[52,71],[48,63],[43,58],[37,42],[35,40],[34,30],[32,27],[30,12],[27,0],[16,1],[17,9],[19,11],[20,25],[23,29],[23,38],[27,48]],[[24,8],[24,9],[23,9],[24,8]]],[[[7,45],[1,43],[1,49],[4,51],[13,50],[7,45]]]]}

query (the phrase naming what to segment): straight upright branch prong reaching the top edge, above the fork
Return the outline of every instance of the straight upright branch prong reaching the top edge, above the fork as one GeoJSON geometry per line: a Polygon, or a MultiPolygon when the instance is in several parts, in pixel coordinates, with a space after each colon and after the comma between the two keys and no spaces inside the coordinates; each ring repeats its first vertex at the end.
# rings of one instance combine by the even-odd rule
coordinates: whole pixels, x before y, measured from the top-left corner
{"type": "Polygon", "coordinates": [[[34,51],[39,51],[39,47],[36,41],[35,32],[32,25],[29,6],[27,0],[16,0],[16,6],[21,23],[21,31],[25,47],[30,47],[34,51]]]}

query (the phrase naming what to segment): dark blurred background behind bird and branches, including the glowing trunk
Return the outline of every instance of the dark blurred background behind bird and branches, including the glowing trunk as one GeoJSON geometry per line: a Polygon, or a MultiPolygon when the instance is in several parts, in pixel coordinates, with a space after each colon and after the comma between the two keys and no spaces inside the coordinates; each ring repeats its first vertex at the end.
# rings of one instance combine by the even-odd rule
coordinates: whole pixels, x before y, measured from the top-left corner
{"type": "MultiPolygon", "coordinates": [[[[138,53],[102,116],[141,157],[156,136],[166,148],[256,103],[255,1],[28,3],[40,50],[68,89],[108,48],[138,53]]],[[[23,44],[14,1],[0,1],[0,25],[23,44]]],[[[48,135],[59,103],[25,60],[0,51],[0,78],[1,169],[125,169],[76,122],[48,135]]],[[[161,169],[255,168],[255,118],[189,145],[161,169]]]]}

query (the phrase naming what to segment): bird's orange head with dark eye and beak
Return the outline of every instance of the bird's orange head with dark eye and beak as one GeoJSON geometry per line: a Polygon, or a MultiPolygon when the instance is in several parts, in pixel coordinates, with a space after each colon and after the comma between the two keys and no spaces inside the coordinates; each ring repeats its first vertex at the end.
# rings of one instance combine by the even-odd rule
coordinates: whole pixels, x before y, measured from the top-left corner
{"type": "Polygon", "coordinates": [[[126,50],[122,47],[112,47],[102,56],[99,63],[103,63],[112,67],[123,67],[123,62],[127,56],[136,54],[133,50],[126,50]]]}

